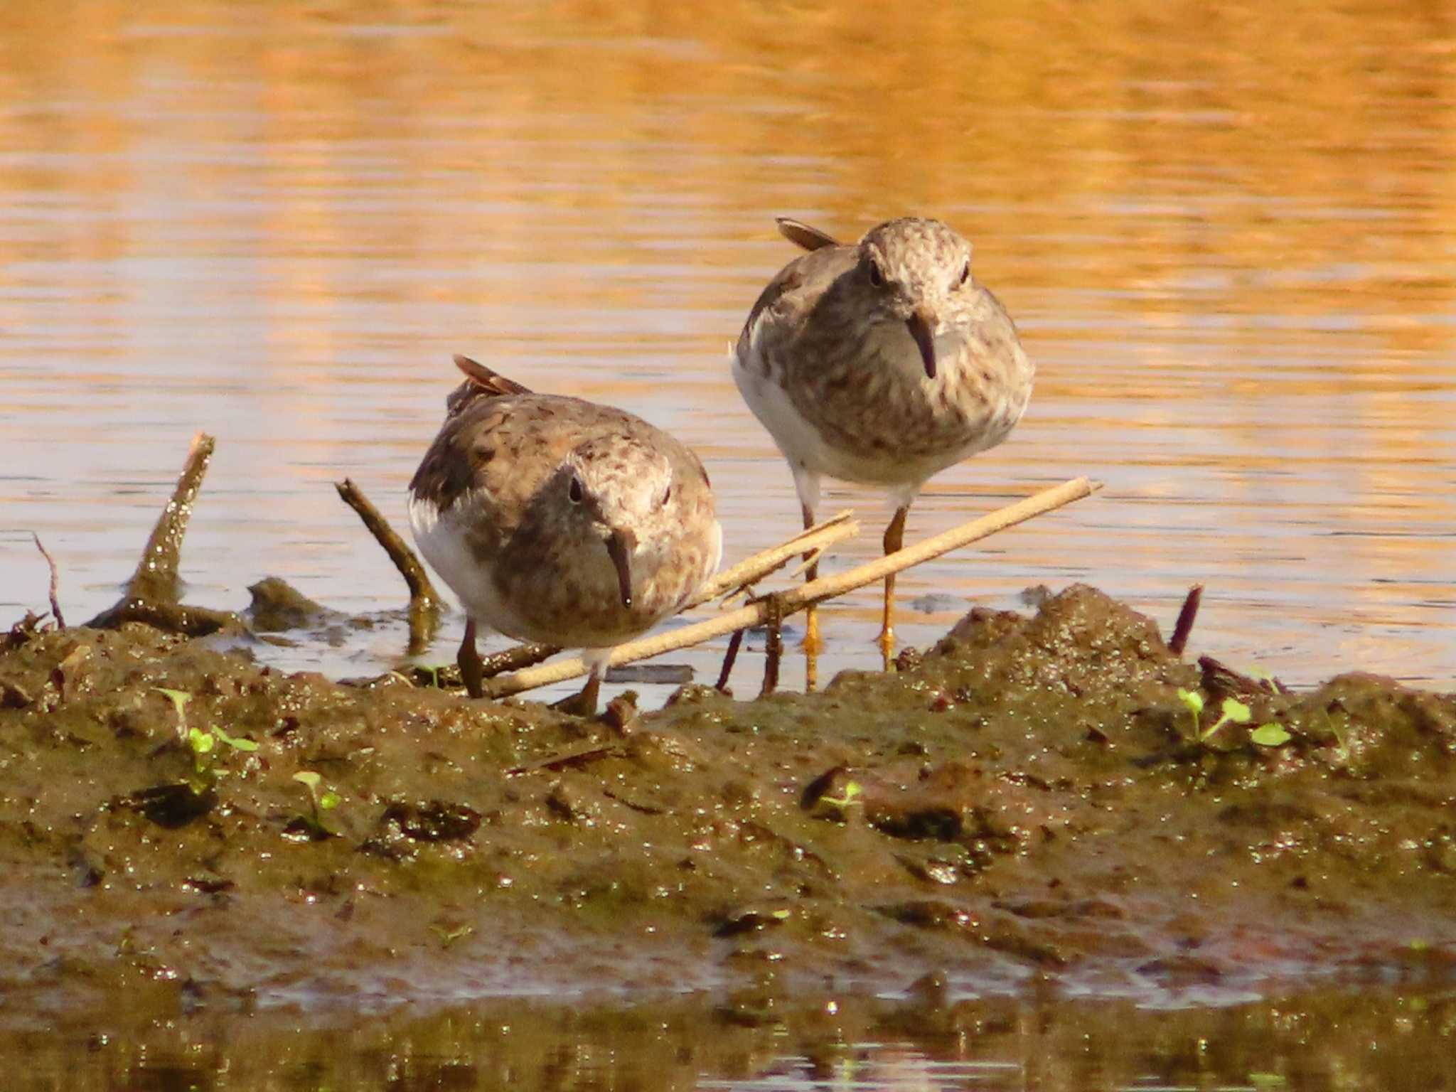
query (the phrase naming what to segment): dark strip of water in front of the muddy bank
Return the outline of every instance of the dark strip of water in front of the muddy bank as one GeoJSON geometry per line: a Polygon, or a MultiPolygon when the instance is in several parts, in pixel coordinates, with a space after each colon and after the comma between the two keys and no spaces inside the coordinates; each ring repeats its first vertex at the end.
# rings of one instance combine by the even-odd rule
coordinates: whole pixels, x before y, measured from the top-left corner
{"type": "MultiPolygon", "coordinates": [[[[149,1013],[150,1015],[150,1013],[149,1013]]],[[[700,999],[633,1006],[486,1003],[434,1015],[223,1015],[0,1032],[16,1088],[68,1092],[713,1089],[1088,1092],[1447,1088],[1456,999],[1406,990],[1224,1009],[1124,1002],[700,999]]]]}

